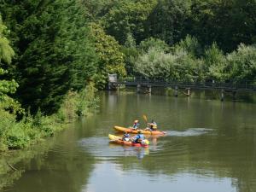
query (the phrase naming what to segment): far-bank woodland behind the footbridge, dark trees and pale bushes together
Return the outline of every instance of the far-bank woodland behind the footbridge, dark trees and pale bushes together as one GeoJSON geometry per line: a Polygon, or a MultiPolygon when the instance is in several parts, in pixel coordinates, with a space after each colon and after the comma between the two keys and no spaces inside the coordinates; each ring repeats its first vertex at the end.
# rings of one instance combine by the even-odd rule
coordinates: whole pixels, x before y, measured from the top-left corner
{"type": "Polygon", "coordinates": [[[105,8],[94,21],[123,46],[129,75],[255,81],[255,1],[107,1],[105,8]]]}

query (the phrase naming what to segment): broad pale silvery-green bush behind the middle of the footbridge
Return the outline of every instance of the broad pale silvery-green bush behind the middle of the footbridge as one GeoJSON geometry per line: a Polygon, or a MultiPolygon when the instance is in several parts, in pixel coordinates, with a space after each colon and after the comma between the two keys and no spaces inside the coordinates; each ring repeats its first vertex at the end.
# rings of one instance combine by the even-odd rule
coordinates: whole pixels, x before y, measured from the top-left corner
{"type": "Polygon", "coordinates": [[[136,70],[148,79],[194,81],[201,76],[201,62],[181,49],[165,53],[151,48],[138,57],[136,70]]]}

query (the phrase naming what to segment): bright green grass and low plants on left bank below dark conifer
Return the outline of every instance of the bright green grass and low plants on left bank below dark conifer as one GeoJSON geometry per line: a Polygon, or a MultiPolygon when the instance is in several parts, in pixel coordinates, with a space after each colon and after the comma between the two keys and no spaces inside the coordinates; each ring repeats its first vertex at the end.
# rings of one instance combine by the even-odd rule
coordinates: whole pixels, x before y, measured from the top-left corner
{"type": "Polygon", "coordinates": [[[74,119],[95,110],[98,100],[96,88],[90,83],[80,92],[69,91],[58,113],[51,116],[44,116],[39,109],[36,115],[26,113],[17,121],[15,113],[9,113],[0,105],[0,151],[26,148],[44,137],[53,136],[74,119]]]}

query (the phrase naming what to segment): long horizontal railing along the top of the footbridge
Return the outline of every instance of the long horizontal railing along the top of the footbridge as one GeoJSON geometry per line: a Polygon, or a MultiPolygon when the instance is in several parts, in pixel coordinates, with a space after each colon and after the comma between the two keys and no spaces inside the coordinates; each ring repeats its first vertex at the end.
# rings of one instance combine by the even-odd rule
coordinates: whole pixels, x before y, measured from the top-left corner
{"type": "Polygon", "coordinates": [[[132,77],[118,79],[119,84],[126,85],[152,85],[152,86],[178,86],[191,88],[209,88],[209,89],[225,89],[225,90],[250,90],[256,91],[256,84],[252,81],[245,82],[218,82],[213,80],[195,80],[195,81],[177,81],[165,79],[143,79],[142,77],[132,77]]]}

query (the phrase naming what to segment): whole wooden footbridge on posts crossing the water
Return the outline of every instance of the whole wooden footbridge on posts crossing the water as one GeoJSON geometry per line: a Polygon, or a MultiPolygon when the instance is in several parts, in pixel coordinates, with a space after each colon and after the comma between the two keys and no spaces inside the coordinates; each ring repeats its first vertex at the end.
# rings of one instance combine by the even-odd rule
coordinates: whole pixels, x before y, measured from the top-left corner
{"type": "Polygon", "coordinates": [[[137,87],[137,92],[140,92],[142,88],[146,88],[148,93],[151,93],[153,87],[172,88],[174,90],[174,96],[177,96],[178,90],[185,90],[185,94],[190,96],[190,90],[219,90],[220,98],[224,100],[224,92],[232,92],[233,97],[236,98],[237,92],[255,92],[256,84],[250,81],[241,83],[236,82],[217,82],[214,80],[204,81],[175,81],[164,79],[143,79],[142,77],[117,79],[113,77],[109,78],[108,88],[119,88],[119,86],[125,85],[126,87],[137,87]]]}

